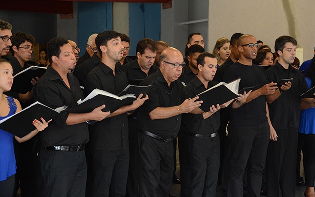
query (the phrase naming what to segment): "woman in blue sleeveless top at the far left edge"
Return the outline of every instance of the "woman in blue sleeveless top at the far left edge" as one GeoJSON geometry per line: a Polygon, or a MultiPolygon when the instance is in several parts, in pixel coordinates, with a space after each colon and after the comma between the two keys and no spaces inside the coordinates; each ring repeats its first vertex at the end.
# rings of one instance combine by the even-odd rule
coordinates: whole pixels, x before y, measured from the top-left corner
{"type": "MultiPolygon", "coordinates": [[[[3,94],[11,89],[13,83],[12,74],[13,69],[10,63],[5,59],[0,59],[0,120],[21,111],[21,105],[18,100],[3,94]]],[[[51,120],[46,122],[41,118],[41,121],[35,119],[33,125],[36,129],[22,138],[0,129],[0,197],[13,196],[14,175],[16,173],[13,137],[18,142],[31,139],[39,131],[44,130],[51,120]]]]}

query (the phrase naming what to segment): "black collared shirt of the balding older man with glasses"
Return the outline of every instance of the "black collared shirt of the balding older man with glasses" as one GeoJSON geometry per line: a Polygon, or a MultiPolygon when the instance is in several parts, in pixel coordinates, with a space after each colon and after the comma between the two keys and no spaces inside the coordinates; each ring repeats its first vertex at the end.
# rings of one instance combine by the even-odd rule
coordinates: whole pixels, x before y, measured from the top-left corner
{"type": "Polygon", "coordinates": [[[149,84],[153,86],[148,93],[149,99],[139,107],[138,128],[163,138],[176,137],[181,125],[181,114],[170,118],[151,120],[149,113],[157,107],[180,105],[186,96],[183,85],[179,80],[176,80],[171,82],[170,87],[168,87],[160,70],[140,83],[140,85],[149,84]]]}

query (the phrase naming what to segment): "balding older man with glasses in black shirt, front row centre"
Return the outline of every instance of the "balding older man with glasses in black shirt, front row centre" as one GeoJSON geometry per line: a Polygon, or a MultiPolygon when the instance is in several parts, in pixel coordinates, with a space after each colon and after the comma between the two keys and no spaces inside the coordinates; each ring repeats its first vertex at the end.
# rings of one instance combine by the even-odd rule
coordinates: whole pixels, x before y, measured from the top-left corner
{"type": "Polygon", "coordinates": [[[153,85],[138,112],[141,197],[169,195],[174,169],[172,141],[179,131],[181,114],[202,102],[195,102],[199,97],[186,99],[184,86],[177,80],[185,66],[179,50],[164,49],[159,62],[159,70],[140,83],[153,85]]]}

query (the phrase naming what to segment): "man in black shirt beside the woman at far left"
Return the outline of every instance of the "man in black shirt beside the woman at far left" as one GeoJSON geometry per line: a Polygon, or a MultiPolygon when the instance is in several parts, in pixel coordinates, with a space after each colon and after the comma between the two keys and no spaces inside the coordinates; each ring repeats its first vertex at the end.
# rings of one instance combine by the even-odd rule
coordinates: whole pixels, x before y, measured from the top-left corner
{"type": "MultiPolygon", "coordinates": [[[[35,99],[53,109],[77,106],[83,99],[78,80],[69,72],[76,59],[67,39],[53,38],[47,44],[51,66],[34,87],[35,99]]],[[[86,121],[101,121],[105,106],[90,113],[62,112],[41,133],[41,171],[45,197],[84,197],[87,166],[84,144],[89,141],[86,121]]]]}

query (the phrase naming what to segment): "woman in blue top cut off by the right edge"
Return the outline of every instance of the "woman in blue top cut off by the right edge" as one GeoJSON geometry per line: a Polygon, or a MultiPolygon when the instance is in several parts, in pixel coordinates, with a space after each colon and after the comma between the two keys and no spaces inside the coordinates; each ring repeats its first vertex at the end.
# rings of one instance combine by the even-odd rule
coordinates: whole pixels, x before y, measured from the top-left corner
{"type": "MultiPolygon", "coordinates": [[[[306,83],[309,88],[315,86],[315,57],[312,59],[309,69],[306,72],[306,83]]],[[[300,116],[299,137],[304,140],[303,161],[306,191],[304,196],[315,197],[315,103],[305,103],[302,100],[300,116]]]]}

